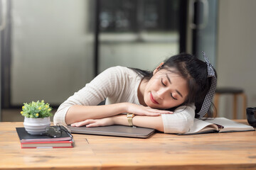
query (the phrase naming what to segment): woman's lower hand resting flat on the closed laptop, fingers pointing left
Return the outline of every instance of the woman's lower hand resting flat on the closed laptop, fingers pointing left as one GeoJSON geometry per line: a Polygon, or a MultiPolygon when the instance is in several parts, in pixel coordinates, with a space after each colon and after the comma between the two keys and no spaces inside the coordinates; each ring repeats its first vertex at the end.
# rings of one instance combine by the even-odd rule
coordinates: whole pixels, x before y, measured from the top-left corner
{"type": "Polygon", "coordinates": [[[100,118],[100,119],[87,119],[83,120],[78,123],[73,123],[71,126],[80,127],[86,126],[87,128],[90,127],[98,127],[98,126],[107,126],[107,125],[114,125],[114,120],[112,118],[100,118]]]}

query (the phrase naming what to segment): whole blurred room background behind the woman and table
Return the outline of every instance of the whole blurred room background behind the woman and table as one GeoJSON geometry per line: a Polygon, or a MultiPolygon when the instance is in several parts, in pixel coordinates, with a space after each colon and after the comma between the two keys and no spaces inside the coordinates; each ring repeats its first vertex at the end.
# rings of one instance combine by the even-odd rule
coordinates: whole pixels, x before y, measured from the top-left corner
{"type": "MultiPolygon", "coordinates": [[[[1,121],[23,121],[24,102],[58,108],[108,67],[153,70],[180,52],[218,72],[256,106],[254,0],[1,0],[1,121]]],[[[218,116],[230,118],[232,96],[218,116]]],[[[243,111],[239,106],[240,117],[243,111]]]]}

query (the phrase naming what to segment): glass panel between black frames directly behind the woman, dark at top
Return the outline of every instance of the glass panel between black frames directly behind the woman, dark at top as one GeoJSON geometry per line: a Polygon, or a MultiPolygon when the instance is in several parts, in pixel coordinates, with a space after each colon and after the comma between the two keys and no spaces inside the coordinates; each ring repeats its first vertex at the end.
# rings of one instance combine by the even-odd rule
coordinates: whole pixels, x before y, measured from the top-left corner
{"type": "Polygon", "coordinates": [[[116,65],[154,69],[178,53],[181,1],[104,0],[100,8],[100,72],[116,65]]]}

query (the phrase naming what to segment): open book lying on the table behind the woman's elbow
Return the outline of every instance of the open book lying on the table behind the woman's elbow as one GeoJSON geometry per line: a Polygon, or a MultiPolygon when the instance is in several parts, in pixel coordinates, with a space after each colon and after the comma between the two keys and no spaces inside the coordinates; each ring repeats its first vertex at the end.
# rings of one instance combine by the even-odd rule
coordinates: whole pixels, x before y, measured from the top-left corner
{"type": "Polygon", "coordinates": [[[240,131],[252,131],[255,130],[250,125],[242,123],[236,123],[233,120],[227,118],[214,118],[209,120],[194,119],[191,130],[184,134],[178,135],[193,135],[207,132],[240,132],[240,131]]]}

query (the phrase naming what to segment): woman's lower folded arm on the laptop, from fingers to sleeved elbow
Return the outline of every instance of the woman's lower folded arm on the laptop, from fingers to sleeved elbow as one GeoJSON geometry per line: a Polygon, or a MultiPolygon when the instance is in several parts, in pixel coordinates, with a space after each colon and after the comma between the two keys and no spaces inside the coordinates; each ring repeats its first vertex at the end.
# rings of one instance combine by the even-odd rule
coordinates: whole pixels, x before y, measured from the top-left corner
{"type": "MultiPolygon", "coordinates": [[[[185,133],[193,125],[194,106],[181,106],[174,114],[161,114],[159,116],[136,115],[132,119],[135,126],[153,128],[165,133],[185,133]]],[[[87,119],[73,126],[97,127],[106,125],[128,125],[127,115],[114,115],[108,118],[87,119]]]]}

